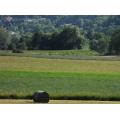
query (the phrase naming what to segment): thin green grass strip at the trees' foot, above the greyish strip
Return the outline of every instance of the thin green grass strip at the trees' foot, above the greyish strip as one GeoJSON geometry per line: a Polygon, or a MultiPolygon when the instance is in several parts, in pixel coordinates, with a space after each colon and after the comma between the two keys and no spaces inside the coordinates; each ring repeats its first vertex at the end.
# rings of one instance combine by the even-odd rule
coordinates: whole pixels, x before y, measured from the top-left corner
{"type": "Polygon", "coordinates": [[[43,56],[51,56],[51,55],[58,55],[58,56],[95,56],[98,55],[95,51],[90,50],[27,50],[24,51],[24,53],[12,53],[10,50],[0,50],[0,55],[15,55],[15,56],[36,56],[39,57],[41,55],[43,56]]]}

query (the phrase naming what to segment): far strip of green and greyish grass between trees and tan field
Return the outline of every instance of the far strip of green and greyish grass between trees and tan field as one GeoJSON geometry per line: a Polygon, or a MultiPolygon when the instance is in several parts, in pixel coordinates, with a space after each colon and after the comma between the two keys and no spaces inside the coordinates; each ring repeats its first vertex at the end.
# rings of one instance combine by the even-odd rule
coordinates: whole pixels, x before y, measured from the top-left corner
{"type": "Polygon", "coordinates": [[[12,53],[10,50],[0,50],[0,56],[18,56],[50,59],[73,59],[73,60],[108,60],[118,61],[120,56],[99,56],[95,51],[82,50],[27,50],[24,53],[12,53]]]}

